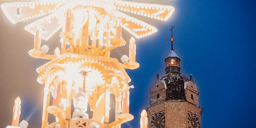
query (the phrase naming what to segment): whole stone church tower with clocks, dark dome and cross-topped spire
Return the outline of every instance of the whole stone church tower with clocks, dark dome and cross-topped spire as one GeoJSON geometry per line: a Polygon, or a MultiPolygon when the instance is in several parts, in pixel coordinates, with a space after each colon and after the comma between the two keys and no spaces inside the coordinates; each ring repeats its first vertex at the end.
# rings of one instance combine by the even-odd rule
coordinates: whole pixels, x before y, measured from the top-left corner
{"type": "Polygon", "coordinates": [[[174,52],[173,41],[171,37],[165,75],[157,74],[150,89],[149,128],[201,128],[203,109],[199,107],[199,91],[192,75],[188,79],[181,74],[181,58],[174,52]]]}

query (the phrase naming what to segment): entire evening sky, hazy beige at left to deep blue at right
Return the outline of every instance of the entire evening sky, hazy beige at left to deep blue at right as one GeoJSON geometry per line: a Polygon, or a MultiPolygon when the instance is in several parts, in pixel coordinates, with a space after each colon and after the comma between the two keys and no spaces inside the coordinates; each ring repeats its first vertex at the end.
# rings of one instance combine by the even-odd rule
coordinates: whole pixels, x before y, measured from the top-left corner
{"type": "MultiPolygon", "coordinates": [[[[1,0],[0,3],[9,0],[1,0]]],[[[156,3],[155,0],[140,2],[156,3]]],[[[193,79],[199,89],[203,108],[203,128],[255,128],[256,108],[256,2],[253,0],[162,0],[157,4],[175,7],[166,22],[138,17],[158,28],[158,32],[137,39],[137,62],[140,67],[126,70],[135,88],[130,90],[130,113],[133,121],[122,128],[139,128],[140,112],[149,106],[149,90],[156,74],[165,74],[164,58],[171,50],[170,28],[174,28],[174,50],[181,58],[181,73],[193,79]]],[[[21,118],[28,128],[41,125],[43,85],[37,83],[36,68],[47,60],[28,55],[33,35],[24,30],[32,21],[12,25],[0,11],[0,127],[11,124],[12,107],[21,97],[21,118]]],[[[131,34],[124,32],[128,41],[131,34]]],[[[58,34],[48,42],[59,47],[58,34]]],[[[127,49],[127,46],[126,46],[127,49]]],[[[114,56],[128,54],[122,48],[114,56]]],[[[119,58],[120,58],[119,57],[119,58]]]]}

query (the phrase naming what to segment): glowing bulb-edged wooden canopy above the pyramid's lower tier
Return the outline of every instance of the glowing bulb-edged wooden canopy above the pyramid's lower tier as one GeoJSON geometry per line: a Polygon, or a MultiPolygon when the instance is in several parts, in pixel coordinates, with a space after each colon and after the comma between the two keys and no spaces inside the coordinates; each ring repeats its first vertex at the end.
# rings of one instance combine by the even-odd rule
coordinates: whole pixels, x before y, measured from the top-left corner
{"type": "Polygon", "coordinates": [[[116,58],[71,53],[60,55],[59,57],[37,68],[37,81],[40,84],[43,84],[46,81],[47,75],[53,79],[52,76],[54,76],[57,72],[65,73],[65,66],[67,64],[79,65],[80,70],[83,68],[89,68],[101,71],[101,74],[105,75],[105,77],[103,76],[105,81],[109,81],[109,77],[106,77],[109,75],[119,76],[126,83],[131,81],[122,64],[119,63],[116,58]]]}

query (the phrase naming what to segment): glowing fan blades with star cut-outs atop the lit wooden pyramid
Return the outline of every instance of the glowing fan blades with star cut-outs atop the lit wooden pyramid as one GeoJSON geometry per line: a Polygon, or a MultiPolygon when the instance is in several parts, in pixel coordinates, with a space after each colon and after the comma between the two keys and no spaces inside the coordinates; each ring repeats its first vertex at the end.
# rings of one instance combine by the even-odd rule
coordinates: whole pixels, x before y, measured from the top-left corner
{"type": "MultiPolygon", "coordinates": [[[[172,6],[118,0],[22,1],[4,3],[1,5],[1,8],[13,24],[49,14],[25,27],[25,30],[36,34],[36,27],[38,25],[42,26],[42,39],[45,40],[48,40],[61,27],[65,26],[65,13],[67,9],[73,9],[74,21],[72,22],[74,26],[72,32],[79,33],[81,26],[89,19],[89,33],[96,27],[95,30],[99,31],[96,37],[99,38],[102,37],[102,29],[100,28],[107,24],[110,25],[111,32],[116,35],[112,28],[115,27],[115,22],[118,19],[121,19],[121,26],[137,38],[149,36],[157,31],[155,27],[119,11],[166,21],[175,10],[172,6]],[[81,8],[78,8],[78,5],[81,8]],[[107,22],[103,21],[103,19],[106,19],[107,22]],[[97,20],[103,22],[97,24],[97,20]]],[[[76,38],[79,36],[77,34],[76,38]]],[[[100,41],[100,44],[103,43],[100,41]]]]}

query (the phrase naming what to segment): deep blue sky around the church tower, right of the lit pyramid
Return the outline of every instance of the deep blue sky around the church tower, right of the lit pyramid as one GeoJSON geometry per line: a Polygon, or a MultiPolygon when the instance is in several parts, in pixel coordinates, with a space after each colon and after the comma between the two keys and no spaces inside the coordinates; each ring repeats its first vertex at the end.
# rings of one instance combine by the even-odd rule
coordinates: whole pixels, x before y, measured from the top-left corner
{"type": "Polygon", "coordinates": [[[169,5],[176,9],[171,19],[153,23],[159,31],[137,41],[140,68],[127,71],[135,86],[130,90],[130,113],[135,118],[123,128],[139,128],[156,74],[165,74],[171,25],[181,73],[193,74],[199,88],[202,127],[255,128],[256,2],[178,0],[169,5]]]}

